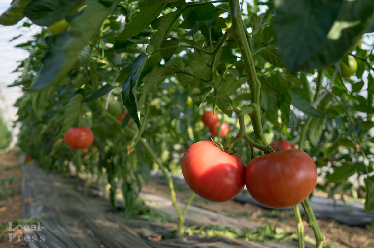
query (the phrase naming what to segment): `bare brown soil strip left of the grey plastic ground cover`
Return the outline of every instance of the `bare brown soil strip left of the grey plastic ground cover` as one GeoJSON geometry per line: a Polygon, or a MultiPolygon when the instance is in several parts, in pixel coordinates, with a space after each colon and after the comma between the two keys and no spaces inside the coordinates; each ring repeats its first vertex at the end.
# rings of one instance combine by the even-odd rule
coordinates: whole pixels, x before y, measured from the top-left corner
{"type": "Polygon", "coordinates": [[[16,221],[21,219],[21,180],[22,171],[18,157],[14,153],[0,154],[0,248],[28,247],[27,242],[17,238],[9,241],[9,233],[22,235],[22,231],[9,231],[9,222],[15,228],[16,221]]]}

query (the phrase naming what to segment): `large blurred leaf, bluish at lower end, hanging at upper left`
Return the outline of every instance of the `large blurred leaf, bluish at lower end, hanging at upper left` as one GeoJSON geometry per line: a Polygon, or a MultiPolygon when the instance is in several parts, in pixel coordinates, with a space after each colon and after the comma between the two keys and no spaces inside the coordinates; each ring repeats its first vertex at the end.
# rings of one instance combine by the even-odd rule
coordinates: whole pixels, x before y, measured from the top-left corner
{"type": "Polygon", "coordinates": [[[88,44],[110,12],[111,8],[100,2],[89,1],[82,13],[71,20],[68,32],[46,37],[50,50],[42,59],[43,66],[30,88],[41,90],[65,77],[76,62],[80,51],[88,44]]]}

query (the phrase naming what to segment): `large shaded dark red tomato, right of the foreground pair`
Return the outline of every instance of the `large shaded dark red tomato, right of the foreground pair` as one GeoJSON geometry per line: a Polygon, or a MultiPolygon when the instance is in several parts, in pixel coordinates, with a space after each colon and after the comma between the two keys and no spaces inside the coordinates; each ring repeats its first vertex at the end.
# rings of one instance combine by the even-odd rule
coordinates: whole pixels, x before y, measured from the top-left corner
{"type": "Polygon", "coordinates": [[[312,193],[317,182],[313,159],[290,149],[259,156],[248,163],[245,185],[251,196],[271,208],[299,204],[312,193]]]}

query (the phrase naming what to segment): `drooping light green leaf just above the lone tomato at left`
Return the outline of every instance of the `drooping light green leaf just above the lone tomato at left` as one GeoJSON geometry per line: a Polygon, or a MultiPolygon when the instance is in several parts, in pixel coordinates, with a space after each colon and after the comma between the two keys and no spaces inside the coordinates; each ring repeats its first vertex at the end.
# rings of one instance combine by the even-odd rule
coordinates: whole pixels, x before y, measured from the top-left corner
{"type": "Polygon", "coordinates": [[[69,101],[64,111],[64,121],[59,133],[65,134],[66,131],[74,124],[82,111],[82,94],[75,94],[69,101]]]}

